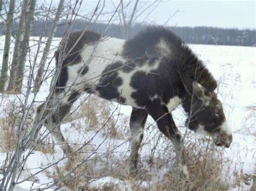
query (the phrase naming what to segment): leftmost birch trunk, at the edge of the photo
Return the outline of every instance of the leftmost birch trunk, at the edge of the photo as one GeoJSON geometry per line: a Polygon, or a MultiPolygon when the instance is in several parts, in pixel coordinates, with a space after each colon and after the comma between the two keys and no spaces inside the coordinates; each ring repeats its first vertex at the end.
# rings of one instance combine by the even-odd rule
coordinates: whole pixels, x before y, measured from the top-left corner
{"type": "Polygon", "coordinates": [[[3,53],[3,62],[0,78],[0,92],[4,92],[4,86],[7,79],[8,72],[8,61],[9,61],[9,52],[10,52],[10,43],[11,43],[11,26],[14,19],[14,10],[15,10],[15,0],[10,0],[9,11],[6,19],[5,26],[5,41],[4,41],[4,53],[3,53]]]}

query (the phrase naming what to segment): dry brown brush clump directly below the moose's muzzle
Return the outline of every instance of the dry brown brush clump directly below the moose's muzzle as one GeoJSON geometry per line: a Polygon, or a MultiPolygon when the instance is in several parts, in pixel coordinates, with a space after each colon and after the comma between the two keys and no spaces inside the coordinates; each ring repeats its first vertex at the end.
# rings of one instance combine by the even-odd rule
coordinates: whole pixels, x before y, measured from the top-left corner
{"type": "Polygon", "coordinates": [[[225,165],[230,161],[223,158],[223,152],[218,150],[207,138],[200,138],[197,144],[186,146],[186,158],[190,182],[196,190],[226,190],[230,185],[225,165]],[[200,146],[199,146],[200,145],[200,146]],[[224,180],[225,177],[225,180],[224,180]]]}

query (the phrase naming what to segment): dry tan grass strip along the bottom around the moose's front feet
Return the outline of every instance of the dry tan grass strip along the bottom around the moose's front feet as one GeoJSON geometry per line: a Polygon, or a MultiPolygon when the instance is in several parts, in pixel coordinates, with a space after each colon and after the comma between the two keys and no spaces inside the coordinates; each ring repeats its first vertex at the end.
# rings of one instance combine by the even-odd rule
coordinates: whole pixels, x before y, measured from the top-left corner
{"type": "MultiPolygon", "coordinates": [[[[79,168],[74,171],[74,174],[78,177],[75,181],[67,184],[69,189],[84,188],[90,190],[122,190],[124,182],[133,190],[227,190],[232,182],[230,181],[230,169],[224,169],[224,165],[227,165],[229,161],[223,159],[222,152],[215,150],[214,147],[208,145],[208,140],[201,138],[197,143],[188,143],[186,146],[186,158],[188,171],[190,173],[190,180],[186,181],[181,178],[179,172],[176,172],[176,168],[170,161],[167,164],[166,159],[173,159],[173,153],[165,153],[166,159],[159,159],[154,157],[154,162],[151,164],[151,170],[147,166],[140,167],[136,178],[129,174],[129,161],[120,160],[112,156],[111,165],[107,159],[106,154],[101,156],[95,155],[87,160],[83,165],[80,162],[86,157],[85,154],[79,155],[74,160],[74,166],[80,165],[79,168]],[[206,146],[198,148],[198,145],[204,144],[206,146]],[[169,172],[161,174],[161,168],[169,168],[169,172]],[[157,173],[156,173],[157,172],[157,173]],[[103,183],[100,188],[91,187],[86,185],[93,179],[100,177],[110,176],[123,182],[120,185],[115,182],[103,183]],[[162,176],[162,177],[161,177],[162,176]],[[147,187],[142,186],[142,181],[147,182],[147,187]]],[[[86,151],[84,151],[86,152],[86,151]]],[[[150,155],[149,155],[150,156],[150,155]]],[[[143,158],[142,162],[148,159],[143,158]]],[[[140,166],[143,166],[140,164],[140,166]]],[[[66,174],[65,167],[55,167],[55,171],[52,174],[48,174],[53,180],[60,180],[66,174]]],[[[163,173],[163,172],[162,172],[163,173]]],[[[59,186],[66,184],[70,180],[70,176],[66,180],[59,182],[59,186]]]]}

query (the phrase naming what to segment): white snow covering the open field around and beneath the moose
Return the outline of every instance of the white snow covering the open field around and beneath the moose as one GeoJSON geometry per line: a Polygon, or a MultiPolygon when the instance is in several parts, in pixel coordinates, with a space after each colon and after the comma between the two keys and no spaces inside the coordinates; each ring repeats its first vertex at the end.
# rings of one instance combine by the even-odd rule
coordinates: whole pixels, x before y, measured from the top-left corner
{"type": "MultiPolygon", "coordinates": [[[[3,47],[3,37],[1,37],[0,45],[3,47]]],[[[36,38],[35,38],[36,39],[36,38]]],[[[59,39],[54,41],[54,45],[58,45],[59,39]]],[[[33,42],[35,43],[35,42],[33,42]]],[[[36,46],[35,46],[36,47],[36,46]]],[[[217,46],[217,45],[190,45],[192,50],[196,52],[201,60],[203,60],[208,69],[212,72],[215,79],[219,82],[218,87],[218,96],[220,100],[223,102],[225,114],[233,130],[233,143],[230,148],[215,148],[223,154],[223,158],[227,160],[226,168],[229,169],[228,179],[230,181],[235,179],[235,174],[255,174],[256,168],[256,114],[255,109],[250,110],[250,107],[256,107],[256,74],[255,74],[255,63],[256,63],[256,48],[255,47],[242,47],[242,46],[217,46]]],[[[33,51],[32,51],[33,52],[33,51]]],[[[2,59],[2,52],[0,52],[0,59],[2,59]]],[[[53,55],[53,51],[50,56],[53,55]]],[[[1,63],[1,60],[0,60],[1,63]]],[[[54,62],[51,64],[51,68],[55,65],[54,62]]],[[[29,67],[29,63],[28,63],[29,67]]],[[[28,69],[28,68],[27,68],[28,69]]],[[[43,101],[48,95],[49,83],[44,83],[41,91],[37,95],[37,101],[43,101]]],[[[25,88],[24,88],[25,91],[25,88]]],[[[1,118],[5,116],[3,108],[8,103],[8,100],[15,99],[16,96],[6,96],[1,95],[1,118]]],[[[22,97],[22,96],[21,96],[22,97]]],[[[83,99],[86,98],[87,95],[83,95],[82,98],[79,98],[76,105],[83,102],[83,99]]],[[[91,99],[95,100],[95,97],[91,99]]],[[[90,101],[90,100],[89,100],[90,101]]],[[[87,104],[87,103],[85,103],[87,104]]],[[[79,145],[84,145],[84,143],[90,143],[90,146],[86,146],[84,152],[86,153],[86,157],[90,155],[88,159],[95,160],[95,166],[92,166],[91,163],[90,168],[98,169],[97,172],[102,173],[104,178],[96,178],[90,179],[88,181],[89,188],[95,189],[103,189],[104,185],[119,185],[117,190],[131,190],[132,185],[129,180],[125,180],[124,178],[118,178],[118,176],[111,177],[109,174],[104,175],[104,169],[102,164],[107,164],[107,169],[118,168],[117,164],[121,164],[121,166],[127,166],[127,159],[130,154],[129,150],[129,121],[127,118],[130,115],[131,107],[129,106],[120,106],[116,103],[105,102],[100,100],[98,105],[95,107],[98,108],[98,113],[95,115],[96,118],[100,115],[103,115],[103,112],[100,111],[102,107],[101,104],[108,104],[107,107],[112,109],[116,109],[114,112],[114,119],[117,121],[113,121],[112,123],[117,123],[116,134],[118,136],[110,136],[111,132],[107,130],[98,131],[103,122],[98,120],[98,123],[90,123],[86,121],[86,115],[79,118],[79,120],[71,121],[65,124],[62,124],[62,131],[64,136],[69,140],[69,143],[73,143],[74,147],[78,148],[79,145]],[[117,115],[120,112],[122,115],[117,115]],[[100,113],[100,115],[99,115],[100,113]],[[119,121],[120,119],[120,121],[119,121]],[[95,126],[91,126],[91,125],[95,126]],[[79,128],[77,128],[79,126],[79,128]],[[106,162],[107,161],[107,162],[106,162]]],[[[91,106],[90,106],[91,107],[91,106]]],[[[80,107],[75,112],[76,115],[79,115],[80,110],[83,107],[80,107]]],[[[85,108],[85,107],[84,107],[85,108]]],[[[92,111],[95,111],[92,109],[92,111]]],[[[111,114],[111,111],[109,112],[111,114]]],[[[181,132],[185,132],[184,122],[184,114],[181,108],[173,111],[174,121],[176,121],[177,126],[180,127],[181,132]]],[[[147,126],[149,128],[145,129],[145,136],[143,139],[143,147],[140,149],[141,153],[141,161],[139,164],[140,169],[144,169],[146,171],[152,171],[155,177],[157,177],[158,181],[163,178],[164,174],[171,169],[169,169],[169,165],[171,161],[167,161],[166,165],[159,165],[160,167],[149,167],[149,158],[153,156],[154,161],[165,161],[164,152],[171,152],[172,147],[170,144],[170,151],[166,151],[167,140],[165,138],[161,138],[156,151],[152,155],[153,145],[156,142],[156,136],[160,135],[155,125],[151,125],[153,123],[152,118],[147,119],[147,126]],[[164,151],[163,151],[164,150],[164,151]]],[[[0,126],[1,131],[1,126],[0,126]]],[[[41,133],[46,134],[45,129],[42,129],[41,133]]],[[[48,136],[49,143],[54,142],[51,136],[48,136]]],[[[196,142],[197,139],[201,138],[200,135],[186,137],[186,141],[188,139],[192,142],[196,142]]],[[[212,143],[211,143],[212,144],[212,143]]],[[[51,144],[55,145],[55,144],[51,144]]],[[[62,150],[58,145],[52,146],[54,150],[53,153],[49,152],[41,152],[36,151],[34,154],[31,154],[28,161],[26,162],[26,171],[22,174],[19,180],[23,180],[24,178],[30,176],[30,174],[37,173],[41,170],[41,167],[45,167],[50,164],[52,161],[57,161],[58,159],[63,157],[62,150]]],[[[3,165],[6,152],[1,151],[0,147],[0,166],[3,165]]],[[[84,158],[84,157],[83,157],[84,158]]],[[[192,160],[192,159],[191,159],[192,160]]],[[[62,168],[65,164],[66,160],[62,160],[58,162],[58,168],[62,168]]],[[[157,163],[157,162],[155,162],[157,163]]],[[[156,165],[155,165],[156,166],[156,165]]],[[[188,169],[190,171],[190,169],[188,169]]],[[[45,188],[50,187],[53,183],[53,177],[55,173],[59,171],[56,170],[56,167],[50,167],[47,169],[47,172],[42,172],[36,174],[36,178],[31,179],[31,181],[22,182],[18,185],[17,190],[28,190],[30,188],[45,188]],[[50,174],[50,175],[49,175],[50,174]],[[36,182],[36,183],[33,183],[36,182]]],[[[1,174],[0,174],[1,180],[1,174]]],[[[153,180],[140,180],[139,185],[140,188],[146,189],[150,185],[154,183],[153,180]]],[[[239,186],[235,185],[234,187],[230,187],[229,190],[247,190],[250,187],[249,181],[247,184],[241,183],[239,186]]],[[[56,187],[52,187],[56,188],[56,187]]],[[[88,188],[88,187],[87,187],[88,188]]],[[[62,187],[65,189],[65,187],[62,187]]]]}

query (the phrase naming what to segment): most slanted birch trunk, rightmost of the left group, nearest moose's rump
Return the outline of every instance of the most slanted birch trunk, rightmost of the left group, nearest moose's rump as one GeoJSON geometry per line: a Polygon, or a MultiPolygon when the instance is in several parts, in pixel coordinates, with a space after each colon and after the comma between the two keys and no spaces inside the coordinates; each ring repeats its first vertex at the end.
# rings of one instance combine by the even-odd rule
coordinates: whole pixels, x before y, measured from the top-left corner
{"type": "Polygon", "coordinates": [[[63,5],[64,5],[64,0],[60,0],[55,18],[53,20],[51,31],[50,31],[48,39],[47,39],[47,43],[44,47],[43,56],[42,56],[42,58],[39,62],[39,69],[38,69],[38,72],[37,72],[37,75],[36,75],[35,87],[34,87],[35,92],[39,91],[39,89],[41,87],[41,84],[43,83],[42,76],[43,76],[43,73],[44,73],[45,62],[46,62],[46,59],[47,59],[47,55],[49,54],[49,51],[50,51],[52,38],[54,37],[54,34],[56,32],[57,23],[58,23],[59,18],[60,18],[60,13],[63,10],[63,5]]]}

